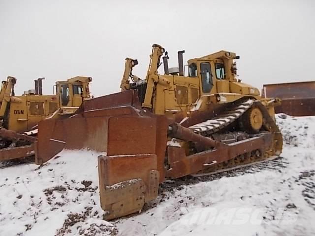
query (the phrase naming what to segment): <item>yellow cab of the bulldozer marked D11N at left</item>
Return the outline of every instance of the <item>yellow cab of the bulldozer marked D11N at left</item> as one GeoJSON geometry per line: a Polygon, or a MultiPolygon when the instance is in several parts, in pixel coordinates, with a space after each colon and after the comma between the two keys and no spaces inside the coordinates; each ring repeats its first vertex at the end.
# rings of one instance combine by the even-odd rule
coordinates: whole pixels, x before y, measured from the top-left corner
{"type": "Polygon", "coordinates": [[[77,76],[67,81],[56,82],[56,94],[59,96],[59,106],[79,107],[84,98],[90,97],[89,83],[91,77],[77,76]]]}

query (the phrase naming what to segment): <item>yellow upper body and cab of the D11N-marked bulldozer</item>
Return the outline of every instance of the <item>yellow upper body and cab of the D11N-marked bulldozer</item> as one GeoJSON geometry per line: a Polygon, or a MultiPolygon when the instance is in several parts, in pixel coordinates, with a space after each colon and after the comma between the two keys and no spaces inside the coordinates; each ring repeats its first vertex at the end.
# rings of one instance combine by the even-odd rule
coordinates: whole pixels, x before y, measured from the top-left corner
{"type": "Polygon", "coordinates": [[[5,94],[0,112],[2,127],[17,132],[27,131],[46,118],[73,114],[84,100],[90,98],[91,80],[91,77],[77,76],[67,81],[57,81],[56,95],[36,95],[35,90],[29,90],[22,96],[14,96],[11,90],[16,80],[9,77],[2,82],[1,94],[5,94]]]}

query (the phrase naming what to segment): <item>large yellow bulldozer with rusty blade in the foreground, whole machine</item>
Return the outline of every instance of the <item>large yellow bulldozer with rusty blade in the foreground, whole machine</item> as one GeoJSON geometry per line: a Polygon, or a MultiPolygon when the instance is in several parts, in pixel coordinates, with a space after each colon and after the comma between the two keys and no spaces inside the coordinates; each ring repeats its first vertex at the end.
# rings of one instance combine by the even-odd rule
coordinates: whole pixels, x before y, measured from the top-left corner
{"type": "Polygon", "coordinates": [[[220,51],[190,59],[184,75],[183,53],[178,68],[169,68],[167,52],[154,44],[145,79],[132,73],[138,61],[126,58],[120,93],[83,102],[71,118],[39,123],[38,164],[63,149],[102,153],[106,219],[140,212],[165,179],[209,175],[282,151],[274,118],[279,100],[262,99],[237,79],[239,56],[220,51]]]}

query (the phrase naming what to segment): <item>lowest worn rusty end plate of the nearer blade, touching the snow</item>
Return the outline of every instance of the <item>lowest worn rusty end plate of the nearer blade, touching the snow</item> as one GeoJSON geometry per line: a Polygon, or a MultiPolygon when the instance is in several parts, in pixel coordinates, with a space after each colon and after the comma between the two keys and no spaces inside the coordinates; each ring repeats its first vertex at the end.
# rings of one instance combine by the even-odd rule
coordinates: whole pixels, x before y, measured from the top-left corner
{"type": "Polygon", "coordinates": [[[137,212],[158,196],[159,172],[155,154],[99,156],[101,207],[113,219],[137,212]]]}

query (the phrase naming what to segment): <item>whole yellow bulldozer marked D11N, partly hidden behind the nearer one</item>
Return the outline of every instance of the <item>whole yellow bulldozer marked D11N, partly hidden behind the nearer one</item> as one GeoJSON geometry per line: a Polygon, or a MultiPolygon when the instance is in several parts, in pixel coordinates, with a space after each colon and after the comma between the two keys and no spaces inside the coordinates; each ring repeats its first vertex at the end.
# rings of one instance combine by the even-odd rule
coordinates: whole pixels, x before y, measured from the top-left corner
{"type": "Polygon", "coordinates": [[[56,95],[42,95],[42,80],[35,89],[15,96],[16,78],[2,81],[0,91],[0,161],[34,155],[37,124],[44,119],[67,118],[90,98],[90,77],[56,82],[56,95]]]}

